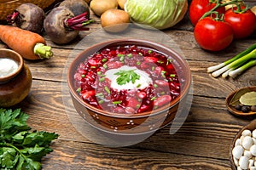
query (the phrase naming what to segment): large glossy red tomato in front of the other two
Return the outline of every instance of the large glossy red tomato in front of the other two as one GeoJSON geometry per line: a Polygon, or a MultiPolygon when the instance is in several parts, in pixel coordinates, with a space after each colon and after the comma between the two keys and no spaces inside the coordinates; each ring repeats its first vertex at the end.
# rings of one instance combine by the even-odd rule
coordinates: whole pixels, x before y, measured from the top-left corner
{"type": "Polygon", "coordinates": [[[229,23],[206,17],[195,25],[194,36],[201,48],[219,51],[230,45],[234,33],[229,23]]]}

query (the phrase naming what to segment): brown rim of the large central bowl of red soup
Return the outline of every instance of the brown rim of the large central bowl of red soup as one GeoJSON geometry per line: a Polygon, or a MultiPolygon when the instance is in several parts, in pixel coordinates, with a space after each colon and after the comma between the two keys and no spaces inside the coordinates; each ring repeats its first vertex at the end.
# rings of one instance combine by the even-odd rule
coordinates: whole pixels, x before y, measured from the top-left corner
{"type": "MultiPolygon", "coordinates": [[[[95,52],[96,52],[95,51],[95,52]]],[[[164,53],[165,54],[165,53],[164,53]]],[[[116,118],[131,118],[131,117],[147,117],[147,116],[154,116],[159,114],[160,112],[163,111],[168,111],[170,106],[175,106],[179,103],[180,100],[182,100],[186,94],[189,93],[189,88],[191,85],[191,71],[189,68],[189,64],[187,63],[187,61],[185,59],[183,59],[183,57],[179,54],[177,54],[175,51],[173,51],[171,48],[167,48],[165,45],[162,45],[160,43],[156,43],[156,42],[151,42],[148,40],[143,40],[143,39],[135,39],[135,38],[125,38],[125,39],[113,39],[113,40],[109,40],[106,42],[100,42],[100,43],[96,43],[93,46],[90,46],[89,48],[84,49],[83,52],[81,52],[78,56],[75,57],[75,59],[73,59],[71,65],[69,65],[68,71],[67,71],[67,84],[68,84],[68,88],[70,90],[71,95],[73,95],[73,97],[79,101],[79,103],[81,105],[84,105],[87,109],[90,109],[90,111],[96,111],[98,114],[102,114],[104,116],[111,116],[111,117],[116,117],[116,118]],[[88,51],[90,51],[91,49],[96,49],[96,51],[102,49],[102,48],[106,48],[108,46],[111,46],[112,44],[116,44],[117,42],[127,42],[127,43],[131,43],[131,42],[135,42],[135,43],[142,43],[142,47],[146,46],[146,45],[151,45],[153,46],[156,50],[159,50],[158,48],[161,49],[165,49],[166,51],[170,52],[170,54],[172,54],[172,57],[174,57],[174,59],[179,60],[179,63],[182,63],[183,65],[183,69],[185,69],[186,74],[184,75],[185,78],[185,86],[183,87],[183,90],[181,91],[181,93],[178,95],[178,97],[174,100],[172,100],[172,102],[169,105],[165,105],[163,107],[160,107],[158,109],[155,109],[154,111],[145,111],[143,113],[137,113],[137,114],[122,114],[122,113],[112,113],[110,111],[103,111],[100,109],[97,109],[96,107],[85,103],[81,98],[79,98],[79,95],[76,93],[76,90],[73,89],[73,82],[70,81],[72,80],[73,77],[73,69],[77,68],[77,62],[80,59],[80,57],[82,56],[82,54],[87,53],[88,51]]]]}

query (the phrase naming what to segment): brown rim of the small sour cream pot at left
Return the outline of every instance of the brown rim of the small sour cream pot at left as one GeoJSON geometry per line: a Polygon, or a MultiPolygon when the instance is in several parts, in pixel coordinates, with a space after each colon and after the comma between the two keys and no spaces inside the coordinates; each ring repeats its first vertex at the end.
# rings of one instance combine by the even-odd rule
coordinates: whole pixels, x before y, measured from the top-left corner
{"type": "MultiPolygon", "coordinates": [[[[7,81],[14,78],[15,76],[17,76],[20,73],[20,71],[22,70],[23,65],[24,65],[24,60],[23,60],[23,58],[21,57],[20,54],[18,54],[17,52],[15,52],[12,49],[0,48],[0,53],[2,53],[3,51],[5,51],[7,53],[10,53],[10,54],[14,54],[16,56],[16,58],[15,59],[14,58],[9,58],[9,59],[14,59],[15,61],[18,62],[18,65],[19,65],[17,70],[14,73],[10,74],[7,77],[0,77],[0,82],[7,82],[7,81]]],[[[8,58],[8,57],[0,55],[0,58],[3,59],[3,58],[8,58]]]]}

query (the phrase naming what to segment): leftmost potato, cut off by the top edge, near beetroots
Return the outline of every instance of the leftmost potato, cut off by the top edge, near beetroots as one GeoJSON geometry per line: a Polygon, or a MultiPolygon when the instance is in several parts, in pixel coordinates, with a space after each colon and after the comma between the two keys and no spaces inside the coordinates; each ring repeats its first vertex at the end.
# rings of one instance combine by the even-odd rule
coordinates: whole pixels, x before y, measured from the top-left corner
{"type": "Polygon", "coordinates": [[[98,16],[112,8],[118,8],[117,0],[92,0],[90,1],[91,10],[98,16]]]}

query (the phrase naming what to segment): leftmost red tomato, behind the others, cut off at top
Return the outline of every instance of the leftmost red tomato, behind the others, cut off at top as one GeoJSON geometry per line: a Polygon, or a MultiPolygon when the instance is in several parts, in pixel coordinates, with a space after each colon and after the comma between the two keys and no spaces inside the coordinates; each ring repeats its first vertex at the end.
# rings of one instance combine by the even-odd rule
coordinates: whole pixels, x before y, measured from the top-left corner
{"type": "MultiPolygon", "coordinates": [[[[203,14],[215,7],[216,3],[210,3],[209,0],[193,0],[189,5],[189,18],[193,26],[198,22],[203,14]]],[[[225,8],[219,7],[215,11],[218,14],[224,14],[225,8]]],[[[215,14],[212,14],[215,17],[215,14]]]]}

